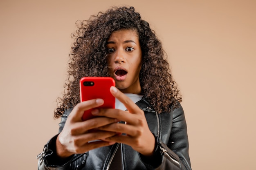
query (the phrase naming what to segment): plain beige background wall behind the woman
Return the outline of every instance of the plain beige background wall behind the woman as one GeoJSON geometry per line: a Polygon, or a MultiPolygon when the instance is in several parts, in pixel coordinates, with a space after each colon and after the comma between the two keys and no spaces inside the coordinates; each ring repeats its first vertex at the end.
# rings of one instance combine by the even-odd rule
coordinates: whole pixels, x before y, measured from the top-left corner
{"type": "Polygon", "coordinates": [[[150,22],[168,53],[193,170],[255,169],[255,0],[1,0],[1,169],[37,169],[58,132],[76,20],[121,4],[150,22]]]}

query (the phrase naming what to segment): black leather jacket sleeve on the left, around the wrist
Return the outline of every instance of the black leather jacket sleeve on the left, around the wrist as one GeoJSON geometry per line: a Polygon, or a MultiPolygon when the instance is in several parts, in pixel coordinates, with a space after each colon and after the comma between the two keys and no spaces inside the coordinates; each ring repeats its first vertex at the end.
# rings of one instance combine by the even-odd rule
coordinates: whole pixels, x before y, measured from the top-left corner
{"type": "MultiPolygon", "coordinates": [[[[59,123],[60,133],[63,130],[65,122],[67,120],[70,110],[65,110],[64,114],[61,117],[61,122],[59,123]]],[[[68,157],[67,159],[61,159],[56,155],[56,139],[58,135],[55,135],[50,139],[45,145],[43,152],[40,153],[38,157],[38,170],[69,170],[70,163],[73,156],[68,157]]]]}

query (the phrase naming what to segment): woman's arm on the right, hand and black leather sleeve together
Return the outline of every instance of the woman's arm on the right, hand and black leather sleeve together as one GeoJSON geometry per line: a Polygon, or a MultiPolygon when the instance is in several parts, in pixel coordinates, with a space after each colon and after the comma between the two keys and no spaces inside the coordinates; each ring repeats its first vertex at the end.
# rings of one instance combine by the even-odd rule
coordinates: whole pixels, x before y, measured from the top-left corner
{"type": "MultiPolygon", "coordinates": [[[[105,138],[105,141],[113,141],[131,146],[133,150],[139,152],[141,160],[148,170],[191,170],[186,121],[181,106],[173,110],[173,113],[168,113],[170,117],[173,114],[173,119],[172,122],[166,122],[168,127],[172,128],[166,134],[170,135],[166,145],[150,132],[143,110],[117,88],[110,88],[110,92],[126,106],[128,111],[97,109],[97,112],[94,110],[92,115],[112,117],[125,121],[126,124],[109,124],[98,129],[119,132],[120,134],[124,133],[126,135],[115,135],[105,138]]],[[[161,117],[161,114],[159,117],[161,117]]]]}

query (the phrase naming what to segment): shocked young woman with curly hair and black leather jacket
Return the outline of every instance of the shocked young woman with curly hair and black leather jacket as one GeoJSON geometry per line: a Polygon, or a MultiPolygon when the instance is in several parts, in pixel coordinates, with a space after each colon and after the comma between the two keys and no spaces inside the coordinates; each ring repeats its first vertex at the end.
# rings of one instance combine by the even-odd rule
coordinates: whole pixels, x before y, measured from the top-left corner
{"type": "Polygon", "coordinates": [[[74,37],[55,112],[59,133],[38,155],[38,169],[191,170],[182,99],[148,22],[133,7],[113,7],[82,21],[74,37]],[[85,110],[104,102],[80,103],[86,76],[115,79],[116,108],[93,109],[96,118],[82,121],[85,110]]]}

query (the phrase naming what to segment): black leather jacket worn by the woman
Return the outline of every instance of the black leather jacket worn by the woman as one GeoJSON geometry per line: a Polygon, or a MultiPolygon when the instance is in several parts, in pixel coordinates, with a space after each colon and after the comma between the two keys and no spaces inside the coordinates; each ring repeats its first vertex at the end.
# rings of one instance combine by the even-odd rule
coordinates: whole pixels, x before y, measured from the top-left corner
{"type": "MultiPolygon", "coordinates": [[[[38,155],[38,170],[108,170],[117,146],[121,146],[124,170],[191,170],[182,106],[179,104],[179,108],[170,113],[157,114],[145,99],[136,104],[144,110],[148,127],[155,135],[156,146],[151,161],[125,144],[105,146],[60,160],[56,155],[56,135],[38,155]]],[[[70,112],[67,110],[61,117],[59,132],[70,112]]]]}

